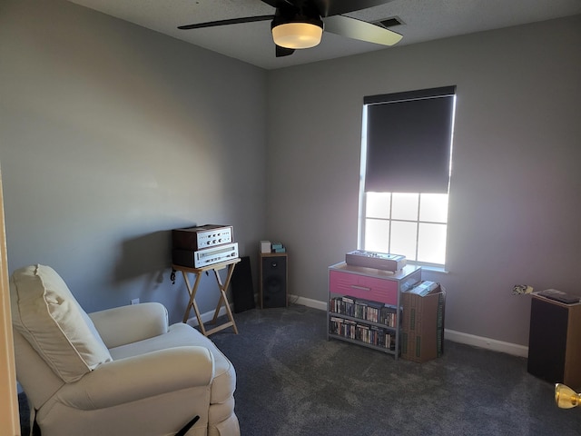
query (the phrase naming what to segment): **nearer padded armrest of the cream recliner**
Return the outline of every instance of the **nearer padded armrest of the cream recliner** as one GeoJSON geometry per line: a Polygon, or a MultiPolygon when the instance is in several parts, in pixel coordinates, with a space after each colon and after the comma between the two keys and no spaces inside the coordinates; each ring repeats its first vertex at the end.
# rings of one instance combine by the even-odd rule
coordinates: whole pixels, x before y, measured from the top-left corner
{"type": "Polygon", "coordinates": [[[203,347],[186,346],[149,352],[99,365],[56,394],[58,401],[84,411],[210,386],[214,363],[203,347]]]}

